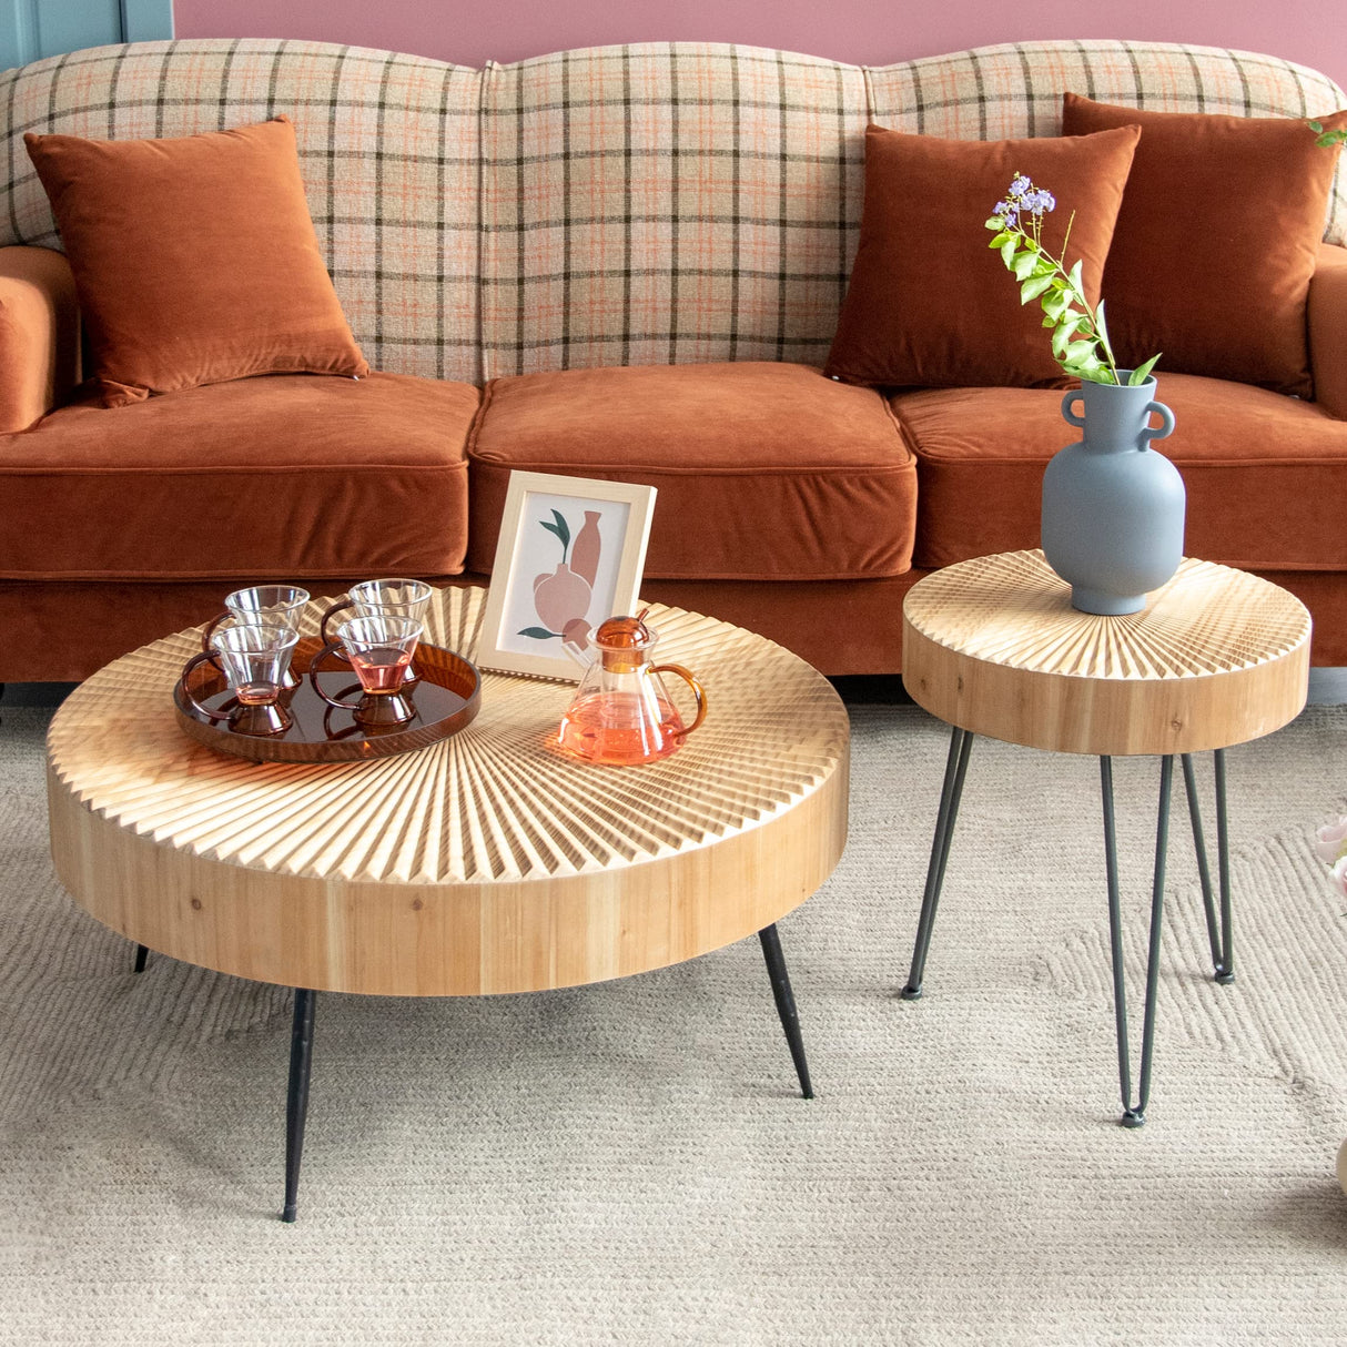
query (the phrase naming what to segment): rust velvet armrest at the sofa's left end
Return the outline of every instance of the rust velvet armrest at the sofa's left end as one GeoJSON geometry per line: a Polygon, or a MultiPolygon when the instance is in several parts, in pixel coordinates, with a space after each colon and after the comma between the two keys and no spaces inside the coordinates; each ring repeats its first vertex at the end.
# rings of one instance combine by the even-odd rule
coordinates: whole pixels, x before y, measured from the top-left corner
{"type": "Polygon", "coordinates": [[[79,308],[66,259],[0,248],[0,431],[27,430],[79,377],[79,308]]]}

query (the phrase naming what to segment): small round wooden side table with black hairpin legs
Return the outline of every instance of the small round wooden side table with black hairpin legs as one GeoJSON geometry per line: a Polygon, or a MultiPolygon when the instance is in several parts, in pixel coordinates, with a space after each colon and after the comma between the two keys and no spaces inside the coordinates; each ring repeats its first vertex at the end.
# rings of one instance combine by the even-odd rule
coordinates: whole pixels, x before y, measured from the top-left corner
{"type": "Polygon", "coordinates": [[[1145,609],[1127,617],[1076,612],[1071,586],[1057,578],[1040,551],[979,556],[919,581],[902,606],[902,683],[919,706],[951,726],[951,734],[904,998],[921,995],[974,737],[1098,756],[1122,1122],[1141,1126],[1150,1095],[1173,760],[1177,756],[1183,764],[1215,978],[1233,982],[1223,750],[1293,719],[1305,704],[1308,679],[1305,606],[1276,585],[1227,566],[1185,559],[1177,574],[1149,595],[1145,609]],[[1208,749],[1215,760],[1219,920],[1192,764],[1193,753],[1208,749]],[[1111,758],[1125,754],[1161,760],[1136,1098],[1111,768],[1111,758]]]}

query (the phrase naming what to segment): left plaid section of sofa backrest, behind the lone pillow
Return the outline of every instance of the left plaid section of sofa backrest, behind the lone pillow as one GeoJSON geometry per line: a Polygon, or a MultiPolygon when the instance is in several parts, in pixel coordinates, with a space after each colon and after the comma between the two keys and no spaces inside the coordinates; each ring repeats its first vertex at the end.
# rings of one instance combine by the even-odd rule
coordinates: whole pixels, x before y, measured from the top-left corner
{"type": "Polygon", "coordinates": [[[481,380],[481,71],[282,40],[94,47],[5,71],[0,242],[58,247],[26,131],[186,136],[284,112],[352,331],[376,369],[481,380]]]}

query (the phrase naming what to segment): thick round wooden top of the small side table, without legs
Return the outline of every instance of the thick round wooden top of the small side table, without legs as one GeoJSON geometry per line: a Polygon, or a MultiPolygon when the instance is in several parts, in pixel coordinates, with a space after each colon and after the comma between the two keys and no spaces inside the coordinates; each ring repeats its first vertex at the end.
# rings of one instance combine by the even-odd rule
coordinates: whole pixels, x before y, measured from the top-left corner
{"type": "Polygon", "coordinates": [[[1284,589],[1185,559],[1140,613],[1096,617],[1043,552],[981,556],[919,581],[902,683],[950,725],[1064,753],[1193,753],[1293,719],[1309,613],[1284,589]]]}

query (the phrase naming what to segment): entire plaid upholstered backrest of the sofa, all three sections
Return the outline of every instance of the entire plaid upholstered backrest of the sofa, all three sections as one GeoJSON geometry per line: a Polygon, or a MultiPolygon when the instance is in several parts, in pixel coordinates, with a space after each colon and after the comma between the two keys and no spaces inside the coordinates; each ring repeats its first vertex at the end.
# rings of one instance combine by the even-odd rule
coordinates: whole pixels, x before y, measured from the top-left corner
{"type": "MultiPolygon", "coordinates": [[[[0,74],[0,244],[57,244],[26,131],[175,136],[286,112],[337,292],[377,369],[481,383],[819,364],[857,244],[866,121],[1057,135],[1067,89],[1175,112],[1347,106],[1304,66],[1167,43],[1016,43],[865,70],[647,43],[485,71],[327,43],[133,43],[0,74]]],[[[1342,170],[1327,237],[1347,242],[1342,170]]]]}

